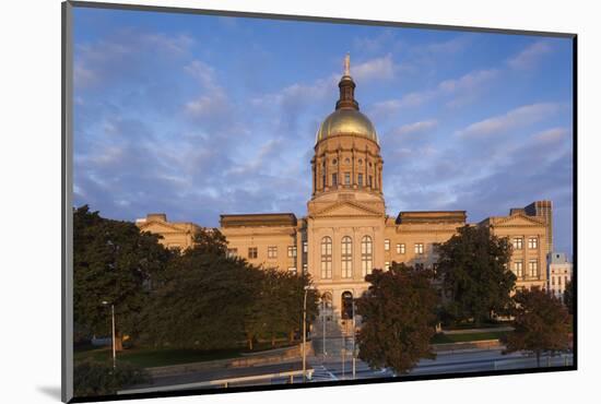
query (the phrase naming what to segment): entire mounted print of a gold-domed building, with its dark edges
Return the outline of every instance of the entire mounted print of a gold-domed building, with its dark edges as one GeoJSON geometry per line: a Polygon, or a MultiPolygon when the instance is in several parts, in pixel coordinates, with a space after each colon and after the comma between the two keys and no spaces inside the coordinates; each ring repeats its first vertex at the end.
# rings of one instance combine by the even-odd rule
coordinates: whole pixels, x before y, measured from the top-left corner
{"type": "Polygon", "coordinates": [[[575,34],[62,11],[63,401],[577,368],[575,34]]]}

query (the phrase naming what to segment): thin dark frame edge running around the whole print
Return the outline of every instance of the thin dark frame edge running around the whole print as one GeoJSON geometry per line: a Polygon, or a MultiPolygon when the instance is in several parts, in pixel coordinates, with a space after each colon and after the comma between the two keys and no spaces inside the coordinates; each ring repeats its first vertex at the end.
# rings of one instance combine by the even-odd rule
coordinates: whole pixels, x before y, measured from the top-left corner
{"type": "Polygon", "coordinates": [[[570,371],[578,369],[578,35],[574,33],[555,33],[541,31],[521,31],[521,29],[502,29],[487,27],[472,27],[460,25],[438,25],[438,24],[420,24],[406,22],[391,21],[373,21],[373,20],[355,20],[341,17],[325,17],[310,15],[291,15],[291,14],[272,14],[272,13],[254,13],[240,11],[223,11],[223,10],[207,10],[207,9],[190,9],[176,7],[156,7],[142,4],[121,4],[121,3],[105,3],[105,2],[89,2],[89,1],[66,1],[61,4],[62,16],[62,69],[61,69],[61,132],[62,132],[62,169],[61,169],[61,191],[62,191],[62,284],[61,284],[61,310],[62,310],[62,364],[61,364],[61,397],[66,403],[84,403],[84,402],[103,402],[103,401],[120,401],[120,400],[138,400],[138,399],[154,399],[154,397],[173,397],[188,395],[204,395],[204,394],[227,394],[239,392],[256,392],[271,390],[288,390],[288,389],[311,389],[320,387],[338,387],[353,384],[373,384],[373,383],[391,383],[414,380],[443,380],[458,378],[474,378],[486,376],[504,376],[504,375],[528,375],[528,373],[545,373],[556,371],[570,371]],[[73,397],[73,344],[72,344],[72,88],[73,88],[73,60],[72,60],[72,8],[92,8],[92,9],[114,9],[114,10],[131,10],[131,11],[149,11],[149,12],[168,12],[184,14],[202,14],[216,16],[239,16],[252,19],[272,19],[272,20],[288,20],[288,21],[310,21],[333,24],[355,24],[355,25],[375,25],[375,26],[393,26],[393,27],[410,27],[410,28],[426,28],[439,31],[461,31],[461,32],[479,32],[479,33],[497,33],[506,35],[530,35],[530,36],[546,36],[571,38],[573,43],[573,274],[571,282],[574,287],[574,332],[573,332],[573,353],[574,360],[570,366],[547,367],[547,368],[531,368],[531,369],[508,369],[494,371],[473,371],[458,373],[440,373],[440,375],[423,375],[423,376],[402,376],[394,378],[374,378],[360,380],[339,380],[339,381],[322,381],[310,384],[279,384],[279,385],[254,385],[254,387],[232,387],[224,390],[175,390],[169,392],[151,392],[151,393],[133,393],[127,395],[98,395],[94,397],[73,397]]]}

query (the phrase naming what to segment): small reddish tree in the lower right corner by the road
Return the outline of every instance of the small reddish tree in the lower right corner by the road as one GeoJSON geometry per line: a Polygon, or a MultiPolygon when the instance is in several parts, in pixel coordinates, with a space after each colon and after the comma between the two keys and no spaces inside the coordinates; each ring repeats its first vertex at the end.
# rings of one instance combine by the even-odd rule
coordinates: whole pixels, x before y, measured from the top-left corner
{"type": "Polygon", "coordinates": [[[569,347],[570,316],[562,301],[544,290],[519,290],[515,296],[515,331],[504,342],[506,353],[529,350],[540,366],[543,352],[561,352],[569,347]]]}

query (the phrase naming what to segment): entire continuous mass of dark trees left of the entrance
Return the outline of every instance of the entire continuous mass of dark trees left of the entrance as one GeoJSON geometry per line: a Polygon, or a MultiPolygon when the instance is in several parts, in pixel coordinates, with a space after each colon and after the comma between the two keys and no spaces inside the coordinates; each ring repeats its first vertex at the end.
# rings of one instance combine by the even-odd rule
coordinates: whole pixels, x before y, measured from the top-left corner
{"type": "MultiPolygon", "coordinates": [[[[156,347],[237,347],[302,329],[308,275],[266,270],[227,254],[219,229],[201,228],[193,247],[170,251],[135,224],[111,221],[84,205],[73,210],[74,323],[85,335],[123,334],[156,347]],[[108,305],[103,305],[106,301],[108,305]]],[[[307,319],[317,312],[307,294],[307,319]]]]}

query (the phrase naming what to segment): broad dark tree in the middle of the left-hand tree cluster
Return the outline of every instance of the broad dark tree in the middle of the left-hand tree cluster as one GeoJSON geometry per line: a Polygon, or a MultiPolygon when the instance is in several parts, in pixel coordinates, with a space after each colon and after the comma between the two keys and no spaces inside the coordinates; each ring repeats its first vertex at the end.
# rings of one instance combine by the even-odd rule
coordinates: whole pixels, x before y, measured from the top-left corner
{"type": "Polygon", "coordinates": [[[228,257],[216,230],[200,230],[192,248],[174,257],[153,290],[146,337],[155,346],[221,349],[245,341],[245,314],[261,273],[228,257]]]}

